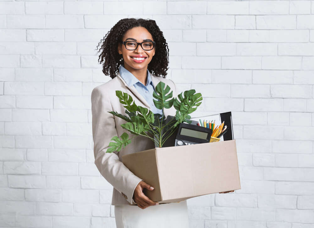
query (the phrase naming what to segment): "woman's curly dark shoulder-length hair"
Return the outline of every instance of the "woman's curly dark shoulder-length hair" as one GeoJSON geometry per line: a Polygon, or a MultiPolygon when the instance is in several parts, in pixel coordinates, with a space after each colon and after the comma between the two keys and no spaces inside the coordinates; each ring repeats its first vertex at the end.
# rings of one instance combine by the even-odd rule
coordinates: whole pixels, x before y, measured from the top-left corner
{"type": "Polygon", "coordinates": [[[154,20],[125,18],[119,20],[104,38],[98,43],[97,49],[100,52],[98,62],[102,64],[102,72],[110,75],[113,79],[119,72],[120,65],[123,64],[122,55],[118,53],[118,45],[127,32],[134,27],[143,27],[152,35],[155,44],[155,55],[148,65],[149,72],[155,76],[163,77],[167,75],[169,63],[169,48],[165,37],[154,20]]]}

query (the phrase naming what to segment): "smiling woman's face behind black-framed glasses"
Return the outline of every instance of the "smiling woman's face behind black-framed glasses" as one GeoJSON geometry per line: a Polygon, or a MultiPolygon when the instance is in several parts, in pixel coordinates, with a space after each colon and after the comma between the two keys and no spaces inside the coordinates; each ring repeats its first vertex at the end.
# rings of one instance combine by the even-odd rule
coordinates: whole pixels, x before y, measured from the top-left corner
{"type": "MultiPolygon", "coordinates": [[[[136,41],[141,43],[143,41],[154,40],[147,29],[143,27],[134,27],[130,30],[127,30],[124,37],[122,38],[122,41],[136,41]]],[[[133,43],[133,45],[134,44],[136,45],[136,43],[133,43]]],[[[119,44],[118,52],[119,54],[122,54],[124,68],[132,73],[134,70],[147,70],[147,66],[155,54],[155,48],[153,50],[147,51],[143,50],[141,45],[138,45],[135,50],[127,50],[123,44],[119,44]]]]}

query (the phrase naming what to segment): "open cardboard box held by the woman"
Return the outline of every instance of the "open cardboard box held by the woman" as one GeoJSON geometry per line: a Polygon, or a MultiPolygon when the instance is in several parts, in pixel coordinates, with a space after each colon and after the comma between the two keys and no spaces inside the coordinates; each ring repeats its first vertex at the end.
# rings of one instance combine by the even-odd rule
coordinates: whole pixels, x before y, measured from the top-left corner
{"type": "Polygon", "coordinates": [[[155,148],[124,155],[122,162],[155,188],[144,192],[154,202],[241,189],[236,140],[155,148]]]}

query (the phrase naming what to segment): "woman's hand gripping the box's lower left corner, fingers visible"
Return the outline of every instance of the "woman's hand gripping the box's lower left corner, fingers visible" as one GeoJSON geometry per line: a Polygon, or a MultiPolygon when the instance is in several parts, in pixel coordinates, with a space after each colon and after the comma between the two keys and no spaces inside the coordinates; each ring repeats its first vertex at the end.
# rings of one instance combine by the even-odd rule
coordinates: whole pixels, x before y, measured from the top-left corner
{"type": "Polygon", "coordinates": [[[158,205],[159,203],[153,202],[147,196],[144,195],[143,193],[144,188],[147,188],[149,191],[154,190],[154,187],[150,186],[149,184],[143,181],[138,183],[133,193],[133,199],[135,203],[138,205],[138,207],[141,209],[145,209],[149,206],[158,205]]]}

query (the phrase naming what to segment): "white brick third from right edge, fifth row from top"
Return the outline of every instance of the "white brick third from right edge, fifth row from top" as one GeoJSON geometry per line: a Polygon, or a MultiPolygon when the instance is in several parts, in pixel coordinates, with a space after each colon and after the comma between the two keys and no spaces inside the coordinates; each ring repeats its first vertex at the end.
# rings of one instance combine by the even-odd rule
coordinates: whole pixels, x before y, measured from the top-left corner
{"type": "Polygon", "coordinates": [[[262,57],[221,57],[222,69],[261,69],[262,57]]]}

